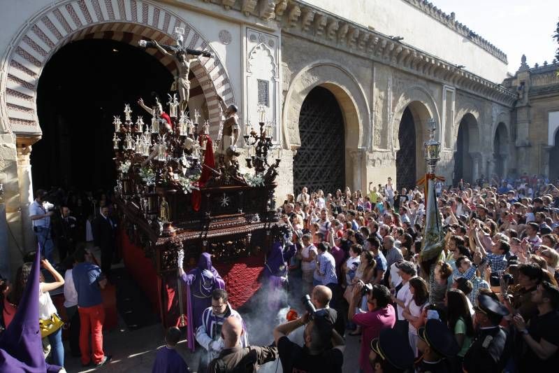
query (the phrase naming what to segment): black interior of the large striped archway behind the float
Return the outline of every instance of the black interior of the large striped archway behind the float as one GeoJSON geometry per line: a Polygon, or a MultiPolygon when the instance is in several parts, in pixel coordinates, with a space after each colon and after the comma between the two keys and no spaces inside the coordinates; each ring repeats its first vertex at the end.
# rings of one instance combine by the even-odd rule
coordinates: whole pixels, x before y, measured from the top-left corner
{"type": "Polygon", "coordinates": [[[37,111],[43,138],[31,153],[33,186],[50,190],[112,190],[112,115],[124,120],[124,104],[150,93],[166,97],[173,76],[152,55],[126,43],[89,39],[61,48],[38,83],[37,111]]]}

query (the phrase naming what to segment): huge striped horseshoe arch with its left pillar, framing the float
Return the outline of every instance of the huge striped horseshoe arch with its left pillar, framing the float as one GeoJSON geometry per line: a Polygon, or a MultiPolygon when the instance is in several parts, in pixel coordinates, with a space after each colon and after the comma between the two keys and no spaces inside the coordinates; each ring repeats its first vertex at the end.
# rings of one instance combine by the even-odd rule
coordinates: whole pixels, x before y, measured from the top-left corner
{"type": "MultiPolygon", "coordinates": [[[[15,243],[11,259],[17,265],[16,246],[33,247],[34,234],[29,220],[33,201],[31,145],[41,139],[36,97],[38,78],[50,57],[66,43],[82,38],[112,38],[137,45],[140,38],[170,43],[175,27],[185,29],[184,43],[189,48],[208,49],[214,59],[192,64],[191,71],[201,85],[210,117],[210,132],[217,134],[220,108],[217,94],[227,104],[235,102],[233,87],[222,59],[201,33],[161,3],[150,0],[66,0],[51,1],[30,17],[10,41],[0,66],[0,135],[7,134],[0,172],[8,174],[4,185],[6,216],[15,243]],[[12,142],[13,141],[13,142],[12,142]]],[[[170,60],[157,55],[161,63],[170,60]]]]}

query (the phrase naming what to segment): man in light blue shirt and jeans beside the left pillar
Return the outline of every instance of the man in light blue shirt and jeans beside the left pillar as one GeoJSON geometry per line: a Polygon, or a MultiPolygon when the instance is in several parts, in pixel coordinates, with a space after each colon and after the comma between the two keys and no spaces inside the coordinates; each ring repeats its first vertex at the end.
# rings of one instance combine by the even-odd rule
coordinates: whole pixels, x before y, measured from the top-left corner
{"type": "Polygon", "coordinates": [[[52,251],[55,244],[50,234],[50,217],[55,205],[44,200],[47,192],[39,189],[35,192],[35,200],[29,206],[29,218],[33,224],[33,232],[37,237],[41,254],[46,260],[52,262],[52,251]]]}

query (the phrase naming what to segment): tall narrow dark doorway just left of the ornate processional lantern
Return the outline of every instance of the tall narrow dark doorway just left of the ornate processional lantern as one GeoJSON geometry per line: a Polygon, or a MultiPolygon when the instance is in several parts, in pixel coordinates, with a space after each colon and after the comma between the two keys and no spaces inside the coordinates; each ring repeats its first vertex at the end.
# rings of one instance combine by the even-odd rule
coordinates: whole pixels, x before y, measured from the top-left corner
{"type": "Polygon", "coordinates": [[[396,188],[413,189],[417,181],[416,132],[414,116],[409,107],[405,108],[398,129],[400,150],[396,152],[396,188]]]}

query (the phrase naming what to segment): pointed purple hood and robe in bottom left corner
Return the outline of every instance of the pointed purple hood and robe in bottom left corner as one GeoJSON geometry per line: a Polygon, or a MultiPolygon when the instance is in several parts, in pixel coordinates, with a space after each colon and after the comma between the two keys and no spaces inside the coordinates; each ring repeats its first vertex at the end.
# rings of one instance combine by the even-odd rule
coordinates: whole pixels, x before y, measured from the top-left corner
{"type": "Polygon", "coordinates": [[[8,328],[0,335],[0,372],[59,372],[61,367],[45,363],[39,332],[39,255],[8,328]]]}

